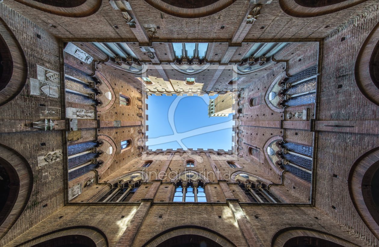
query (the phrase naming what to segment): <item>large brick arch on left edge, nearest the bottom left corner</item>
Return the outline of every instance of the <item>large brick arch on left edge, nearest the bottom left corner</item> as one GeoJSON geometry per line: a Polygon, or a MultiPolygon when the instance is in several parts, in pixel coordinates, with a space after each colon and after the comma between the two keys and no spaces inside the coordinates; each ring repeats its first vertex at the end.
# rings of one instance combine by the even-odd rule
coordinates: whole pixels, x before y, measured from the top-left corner
{"type": "Polygon", "coordinates": [[[25,158],[0,144],[0,164],[9,177],[8,198],[0,212],[0,239],[25,210],[33,188],[33,171],[25,158]]]}

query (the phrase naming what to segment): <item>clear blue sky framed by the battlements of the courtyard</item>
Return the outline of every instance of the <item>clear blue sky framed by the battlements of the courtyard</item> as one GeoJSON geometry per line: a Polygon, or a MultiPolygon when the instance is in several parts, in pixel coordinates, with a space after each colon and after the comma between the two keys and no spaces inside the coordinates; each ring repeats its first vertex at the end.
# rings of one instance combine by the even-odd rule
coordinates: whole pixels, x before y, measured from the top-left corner
{"type": "Polygon", "coordinates": [[[215,99],[216,96],[149,96],[146,101],[149,104],[146,113],[149,115],[149,120],[146,121],[149,125],[146,133],[149,140],[146,145],[152,150],[232,149],[232,114],[229,117],[208,117],[209,99],[215,99]]]}

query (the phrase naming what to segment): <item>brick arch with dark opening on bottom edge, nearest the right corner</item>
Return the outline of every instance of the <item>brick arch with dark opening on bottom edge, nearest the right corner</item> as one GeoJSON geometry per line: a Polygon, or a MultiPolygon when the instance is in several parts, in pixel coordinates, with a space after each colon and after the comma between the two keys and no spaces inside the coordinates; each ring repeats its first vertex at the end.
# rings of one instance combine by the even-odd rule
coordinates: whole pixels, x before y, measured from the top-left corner
{"type": "Polygon", "coordinates": [[[295,246],[358,247],[359,245],[330,233],[305,227],[283,228],[274,234],[271,241],[271,247],[295,246]],[[312,240],[318,245],[312,244],[312,240]]]}

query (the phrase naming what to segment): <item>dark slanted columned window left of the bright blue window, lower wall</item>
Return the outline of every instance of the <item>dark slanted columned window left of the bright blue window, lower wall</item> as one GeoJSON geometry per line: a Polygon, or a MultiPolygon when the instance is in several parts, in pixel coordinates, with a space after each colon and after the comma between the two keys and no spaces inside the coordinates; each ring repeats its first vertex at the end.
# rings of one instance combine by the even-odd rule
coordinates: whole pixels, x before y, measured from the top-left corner
{"type": "Polygon", "coordinates": [[[136,193],[141,181],[136,183],[116,183],[112,188],[103,195],[98,202],[128,202],[136,193]]]}

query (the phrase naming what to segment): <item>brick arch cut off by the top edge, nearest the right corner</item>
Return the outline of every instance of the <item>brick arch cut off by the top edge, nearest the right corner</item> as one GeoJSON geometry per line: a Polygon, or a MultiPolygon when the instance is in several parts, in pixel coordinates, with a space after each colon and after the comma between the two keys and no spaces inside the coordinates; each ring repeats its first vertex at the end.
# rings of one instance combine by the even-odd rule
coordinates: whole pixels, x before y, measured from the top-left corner
{"type": "Polygon", "coordinates": [[[279,0],[282,11],[293,17],[316,17],[350,8],[367,0],[279,0]]]}

